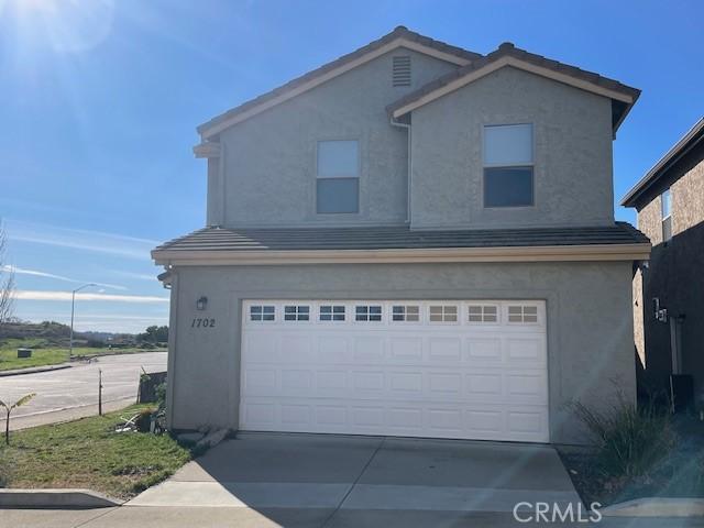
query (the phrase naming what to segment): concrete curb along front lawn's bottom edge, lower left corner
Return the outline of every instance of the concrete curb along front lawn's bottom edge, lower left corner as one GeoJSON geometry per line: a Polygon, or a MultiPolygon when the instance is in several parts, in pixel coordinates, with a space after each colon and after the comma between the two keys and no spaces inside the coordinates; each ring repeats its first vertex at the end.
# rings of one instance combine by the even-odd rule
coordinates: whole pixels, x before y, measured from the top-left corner
{"type": "Polygon", "coordinates": [[[124,501],[90,490],[0,490],[0,508],[112,508],[124,501]]]}

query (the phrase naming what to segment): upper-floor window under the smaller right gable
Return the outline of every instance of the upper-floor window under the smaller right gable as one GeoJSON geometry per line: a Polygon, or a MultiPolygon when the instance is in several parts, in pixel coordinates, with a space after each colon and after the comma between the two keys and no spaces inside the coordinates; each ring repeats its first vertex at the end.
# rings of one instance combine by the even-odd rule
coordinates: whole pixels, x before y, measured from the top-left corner
{"type": "Polygon", "coordinates": [[[484,127],[484,207],[534,205],[532,124],[484,127]]]}

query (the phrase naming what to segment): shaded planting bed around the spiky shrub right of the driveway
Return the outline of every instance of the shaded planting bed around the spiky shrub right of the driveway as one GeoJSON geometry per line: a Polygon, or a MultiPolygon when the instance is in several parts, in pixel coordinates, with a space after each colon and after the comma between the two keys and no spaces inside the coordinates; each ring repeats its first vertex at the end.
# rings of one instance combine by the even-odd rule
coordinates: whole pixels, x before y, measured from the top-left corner
{"type": "Polygon", "coordinates": [[[673,448],[637,477],[601,471],[598,459],[590,449],[558,450],[586,504],[598,502],[606,506],[641,497],[704,497],[704,422],[680,416],[672,427],[676,435],[673,448]]]}

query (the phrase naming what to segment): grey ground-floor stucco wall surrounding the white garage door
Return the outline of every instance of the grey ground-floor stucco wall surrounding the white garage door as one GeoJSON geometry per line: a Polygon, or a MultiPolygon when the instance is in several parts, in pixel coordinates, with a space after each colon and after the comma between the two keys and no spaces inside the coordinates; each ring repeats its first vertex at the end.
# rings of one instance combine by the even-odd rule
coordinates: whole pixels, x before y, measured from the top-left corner
{"type": "Polygon", "coordinates": [[[551,439],[584,442],[564,406],[635,398],[630,262],[175,268],[170,425],[237,428],[243,299],[546,299],[551,439]],[[196,300],[208,297],[206,311],[196,300]],[[194,318],[213,318],[194,328],[194,318]]]}

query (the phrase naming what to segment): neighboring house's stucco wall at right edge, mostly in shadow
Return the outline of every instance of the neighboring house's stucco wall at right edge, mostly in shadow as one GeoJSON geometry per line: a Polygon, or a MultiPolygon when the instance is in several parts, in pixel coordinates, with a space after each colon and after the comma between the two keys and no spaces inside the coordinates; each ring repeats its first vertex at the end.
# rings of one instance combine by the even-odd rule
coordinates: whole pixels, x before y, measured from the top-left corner
{"type": "Polygon", "coordinates": [[[670,326],[656,321],[652,315],[652,299],[658,297],[670,317],[684,316],[680,330],[682,370],[693,375],[700,404],[704,404],[703,160],[704,147],[690,153],[639,204],[638,229],[650,238],[653,249],[642,274],[642,288],[634,283],[634,295],[642,298],[645,308],[642,327],[636,326],[635,331],[644,337],[647,388],[667,392],[672,372],[670,326]],[[668,187],[673,237],[663,243],[660,194],[668,187]]]}

